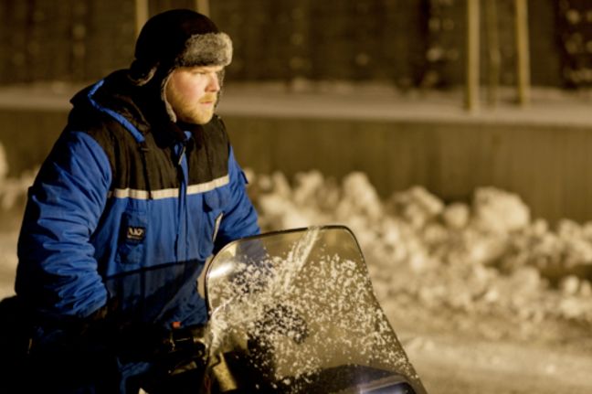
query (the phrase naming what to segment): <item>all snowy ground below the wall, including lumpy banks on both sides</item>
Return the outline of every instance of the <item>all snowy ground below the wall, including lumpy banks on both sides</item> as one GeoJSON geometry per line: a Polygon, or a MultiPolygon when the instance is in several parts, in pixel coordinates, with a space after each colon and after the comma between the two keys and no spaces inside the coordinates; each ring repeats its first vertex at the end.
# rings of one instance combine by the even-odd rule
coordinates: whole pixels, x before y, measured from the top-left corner
{"type": "MultiPolygon", "coordinates": [[[[17,226],[32,182],[5,174],[0,168],[3,297],[14,293],[17,226]]],[[[315,171],[248,177],[264,230],[354,231],[429,392],[592,392],[592,223],[552,227],[492,187],[447,204],[421,186],[381,199],[361,173],[339,182],[315,171]]]]}

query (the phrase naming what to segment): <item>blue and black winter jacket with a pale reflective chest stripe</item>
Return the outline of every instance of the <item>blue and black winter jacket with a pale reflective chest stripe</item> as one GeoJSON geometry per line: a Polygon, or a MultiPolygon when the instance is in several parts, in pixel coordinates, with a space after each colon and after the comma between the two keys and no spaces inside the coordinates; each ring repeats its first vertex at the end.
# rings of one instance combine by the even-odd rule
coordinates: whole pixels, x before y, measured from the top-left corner
{"type": "Polygon", "coordinates": [[[29,189],[16,293],[41,314],[204,323],[206,259],[259,232],[220,118],[170,122],[147,89],[117,71],[80,91],[29,189]]]}

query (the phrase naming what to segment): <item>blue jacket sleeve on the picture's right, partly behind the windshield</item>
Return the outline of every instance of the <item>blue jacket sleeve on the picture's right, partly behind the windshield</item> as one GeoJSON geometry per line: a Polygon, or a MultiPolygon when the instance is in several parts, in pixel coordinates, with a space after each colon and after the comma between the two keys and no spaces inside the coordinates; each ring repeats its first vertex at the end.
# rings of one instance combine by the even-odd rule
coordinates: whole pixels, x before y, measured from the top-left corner
{"type": "Polygon", "coordinates": [[[247,195],[247,177],[234,157],[232,147],[228,155],[230,200],[218,229],[214,253],[232,240],[259,234],[257,211],[247,195]]]}

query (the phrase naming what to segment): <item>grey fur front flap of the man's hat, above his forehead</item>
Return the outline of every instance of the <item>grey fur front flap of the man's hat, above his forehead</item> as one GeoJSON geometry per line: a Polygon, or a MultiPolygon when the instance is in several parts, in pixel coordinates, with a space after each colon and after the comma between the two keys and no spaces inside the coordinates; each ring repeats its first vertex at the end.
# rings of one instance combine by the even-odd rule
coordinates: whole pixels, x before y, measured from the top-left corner
{"type": "Polygon", "coordinates": [[[196,34],[185,42],[176,67],[227,66],[232,61],[232,41],[226,33],[196,34]]]}

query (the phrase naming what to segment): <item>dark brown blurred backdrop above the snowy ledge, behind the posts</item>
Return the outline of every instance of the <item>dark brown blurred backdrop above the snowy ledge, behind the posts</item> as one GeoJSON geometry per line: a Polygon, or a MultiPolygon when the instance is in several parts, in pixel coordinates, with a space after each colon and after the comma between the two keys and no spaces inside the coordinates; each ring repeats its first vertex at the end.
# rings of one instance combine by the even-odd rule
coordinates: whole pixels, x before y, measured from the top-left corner
{"type": "MultiPolygon", "coordinates": [[[[488,12],[481,2],[482,75],[488,12]]],[[[531,0],[532,83],[592,79],[592,14],[585,0],[531,0]],[[566,48],[569,48],[566,49],[566,48]]],[[[150,0],[149,14],[193,7],[150,0]]],[[[502,84],[513,84],[513,0],[494,0],[502,84]]],[[[233,80],[371,80],[408,89],[463,83],[466,0],[217,0],[210,16],[233,37],[233,80]]],[[[3,0],[0,83],[86,81],[127,67],[135,37],[132,0],[3,0]]],[[[485,77],[483,77],[485,78],[485,77]]]]}

